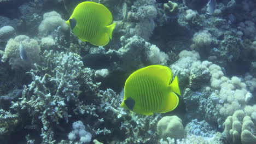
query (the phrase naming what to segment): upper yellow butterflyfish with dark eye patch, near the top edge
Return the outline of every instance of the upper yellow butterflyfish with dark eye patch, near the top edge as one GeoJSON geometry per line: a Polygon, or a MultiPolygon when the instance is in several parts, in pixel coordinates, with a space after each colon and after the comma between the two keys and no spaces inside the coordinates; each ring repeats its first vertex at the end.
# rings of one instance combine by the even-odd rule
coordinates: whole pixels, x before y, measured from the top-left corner
{"type": "Polygon", "coordinates": [[[110,25],[112,20],[111,12],[104,5],[86,1],[75,7],[66,23],[80,40],[104,46],[112,39],[115,28],[115,23],[110,25]]]}

